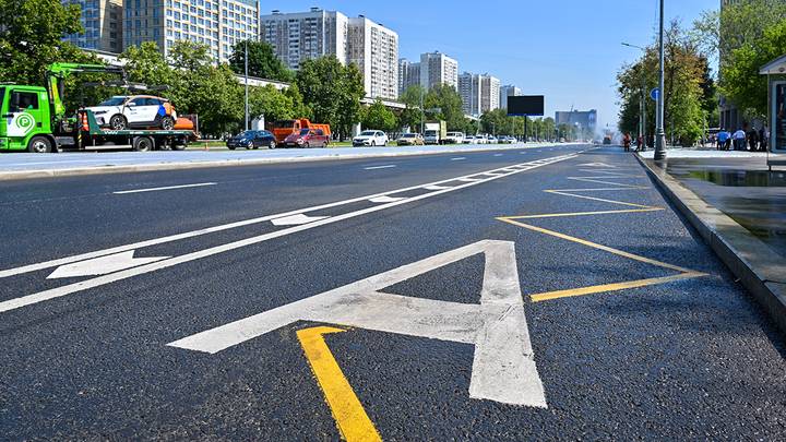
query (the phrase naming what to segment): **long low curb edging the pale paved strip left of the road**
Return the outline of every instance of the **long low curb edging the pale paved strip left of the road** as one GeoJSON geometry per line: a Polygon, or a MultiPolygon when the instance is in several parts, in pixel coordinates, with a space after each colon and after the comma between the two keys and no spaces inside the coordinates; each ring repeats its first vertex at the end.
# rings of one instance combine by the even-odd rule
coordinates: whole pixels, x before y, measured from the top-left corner
{"type": "MultiPolygon", "coordinates": [[[[252,158],[252,159],[219,159],[219,160],[201,160],[201,162],[172,162],[172,163],[156,163],[156,164],[139,164],[139,165],[123,165],[123,166],[91,166],[91,167],[74,167],[68,169],[38,169],[38,170],[9,170],[0,171],[0,181],[10,180],[22,180],[22,179],[34,179],[34,178],[58,178],[58,177],[75,177],[86,175],[103,175],[103,174],[128,174],[128,172],[144,172],[144,171],[160,171],[160,170],[180,170],[180,169],[201,169],[212,167],[235,167],[235,166],[263,166],[273,164],[290,164],[290,163],[313,163],[313,162],[335,162],[345,159],[372,159],[372,158],[392,158],[392,157],[406,157],[406,156],[426,156],[426,155],[444,155],[444,154],[462,154],[462,153],[478,153],[478,152],[500,152],[500,151],[521,151],[528,148],[540,148],[556,146],[521,146],[521,147],[485,147],[485,148],[472,148],[472,150],[444,150],[444,151],[421,151],[421,152],[391,152],[384,154],[335,154],[329,156],[319,157],[284,157],[284,158],[252,158]]],[[[178,153],[174,153],[177,155],[178,153]]]]}

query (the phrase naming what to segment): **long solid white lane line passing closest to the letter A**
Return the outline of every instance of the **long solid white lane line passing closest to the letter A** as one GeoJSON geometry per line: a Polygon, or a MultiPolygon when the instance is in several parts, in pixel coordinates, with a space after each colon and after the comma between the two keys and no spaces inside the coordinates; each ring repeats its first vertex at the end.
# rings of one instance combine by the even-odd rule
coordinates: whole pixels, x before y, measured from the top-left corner
{"type": "MultiPolygon", "coordinates": [[[[574,155],[574,154],[561,155],[561,156],[553,157],[553,158],[552,158],[552,162],[549,163],[549,164],[555,164],[555,163],[559,163],[559,162],[564,162],[564,160],[568,160],[568,159],[573,159],[573,158],[575,158],[575,157],[576,157],[576,155],[574,155]]],[[[535,168],[538,168],[538,167],[543,167],[543,166],[546,166],[546,164],[538,165],[538,166],[533,166],[532,169],[535,169],[535,168]]],[[[523,171],[523,170],[522,170],[522,171],[523,171]]],[[[10,310],[15,310],[15,309],[19,309],[19,308],[22,308],[22,307],[25,307],[25,306],[31,306],[31,304],[34,304],[34,303],[43,302],[43,301],[46,301],[46,300],[60,298],[60,297],[63,297],[63,296],[67,296],[67,295],[71,295],[71,294],[78,292],[78,291],[83,291],[83,290],[87,290],[87,289],[91,289],[91,288],[100,287],[100,286],[104,286],[104,285],[107,285],[107,284],[111,284],[111,283],[115,283],[115,282],[118,282],[118,280],[122,280],[122,279],[128,279],[128,278],[130,278],[130,277],[138,276],[138,275],[142,275],[142,274],[145,274],[145,273],[151,273],[151,272],[159,271],[159,270],[163,270],[163,268],[172,267],[172,266],[178,265],[178,264],[182,264],[182,263],[187,263],[187,262],[191,262],[191,261],[201,260],[201,259],[203,259],[203,258],[212,256],[212,255],[215,255],[215,254],[218,254],[218,253],[225,253],[225,252],[228,252],[228,251],[231,251],[231,250],[237,250],[237,249],[240,249],[240,248],[243,248],[243,247],[258,244],[258,243],[261,243],[261,242],[264,242],[264,241],[269,241],[269,240],[272,240],[272,239],[276,239],[276,238],[281,238],[281,237],[284,237],[284,236],[287,236],[287,235],[293,235],[293,234],[297,234],[297,232],[300,232],[300,231],[303,231],[303,230],[309,230],[309,229],[317,228],[317,227],[320,227],[320,226],[324,226],[324,225],[337,223],[337,222],[341,222],[341,220],[344,220],[344,219],[355,218],[355,217],[362,216],[362,215],[366,215],[366,214],[384,211],[384,210],[390,208],[390,207],[395,207],[395,206],[398,206],[398,205],[402,205],[402,204],[408,204],[408,203],[417,202],[417,201],[420,201],[420,200],[425,200],[425,199],[427,199],[427,198],[432,198],[432,196],[441,195],[441,194],[444,194],[444,193],[449,193],[449,192],[453,192],[453,191],[466,189],[466,188],[469,188],[469,187],[478,186],[478,184],[481,184],[481,183],[485,183],[485,182],[488,182],[488,181],[498,180],[498,179],[501,179],[501,178],[504,178],[504,177],[508,177],[508,176],[512,176],[512,175],[515,175],[515,174],[520,174],[520,172],[521,172],[521,171],[515,171],[515,172],[510,172],[510,174],[502,175],[502,176],[499,176],[499,177],[490,177],[490,178],[486,178],[486,179],[478,180],[478,181],[472,181],[472,182],[467,182],[466,184],[460,184],[460,186],[451,187],[451,188],[449,188],[449,189],[444,189],[444,190],[440,190],[440,191],[434,191],[434,192],[431,192],[431,193],[425,193],[425,194],[417,195],[417,196],[413,196],[413,198],[409,198],[409,199],[406,199],[406,200],[403,200],[403,201],[396,201],[396,202],[394,202],[394,203],[376,205],[376,206],[373,206],[373,207],[368,207],[368,208],[364,208],[364,210],[356,211],[356,212],[350,212],[350,213],[346,213],[346,214],[342,214],[342,215],[332,216],[332,217],[329,217],[329,218],[325,218],[325,219],[320,219],[320,220],[317,220],[317,222],[313,222],[313,223],[309,223],[309,224],[305,224],[305,225],[301,225],[301,226],[289,227],[289,228],[286,228],[286,229],[282,229],[282,230],[277,230],[277,231],[273,231],[273,232],[269,232],[269,234],[264,234],[264,235],[260,235],[260,236],[255,236],[255,237],[242,239],[242,240],[239,240],[239,241],[235,241],[235,242],[230,242],[230,243],[226,243],[226,244],[222,244],[222,246],[212,247],[212,248],[210,248],[210,249],[199,250],[199,251],[195,251],[195,252],[187,253],[187,254],[183,254],[183,255],[180,255],[180,256],[170,258],[170,259],[167,259],[167,260],[163,260],[163,261],[158,261],[158,262],[155,262],[155,263],[142,265],[142,266],[139,266],[139,267],[128,268],[128,270],[120,271],[120,272],[117,272],[117,273],[112,273],[112,274],[109,274],[109,275],[99,276],[99,277],[96,277],[96,278],[93,278],[93,279],[82,280],[82,282],[79,282],[79,283],[75,283],[75,284],[70,284],[70,285],[66,285],[66,286],[56,287],[56,288],[51,288],[51,289],[48,289],[48,290],[39,291],[39,292],[36,292],[36,294],[31,294],[31,295],[22,296],[22,297],[20,297],[20,298],[14,298],[14,299],[10,299],[10,300],[0,302],[0,313],[5,312],[5,311],[10,311],[10,310]]],[[[454,181],[454,180],[455,180],[455,179],[448,179],[448,180],[439,181],[438,183],[449,182],[449,181],[454,181]]],[[[429,184],[429,186],[432,186],[432,184],[429,184]]],[[[417,187],[414,187],[414,188],[410,188],[410,189],[407,189],[407,190],[420,189],[420,188],[422,188],[422,186],[417,186],[417,187]]],[[[403,191],[403,190],[398,190],[397,192],[402,192],[402,191],[403,191]]],[[[391,193],[396,193],[396,191],[388,192],[388,193],[385,193],[385,194],[391,194],[391,193]]],[[[384,194],[366,196],[366,198],[361,198],[361,199],[356,199],[356,200],[354,200],[354,201],[364,201],[364,200],[368,200],[369,198],[382,196],[382,195],[384,195],[384,194]]],[[[303,211],[301,211],[301,212],[303,212],[303,211]]],[[[275,216],[274,216],[274,217],[275,217],[275,216]]],[[[270,218],[269,218],[269,219],[270,219],[270,218]]],[[[116,248],[116,249],[117,249],[117,248],[116,248]]],[[[41,264],[34,264],[34,265],[40,266],[41,264]]],[[[29,267],[31,267],[31,266],[27,266],[27,268],[29,268],[29,267]]],[[[44,268],[46,268],[46,267],[44,267],[44,268]]],[[[17,272],[17,273],[14,273],[14,274],[23,273],[23,272],[19,272],[19,270],[12,270],[12,271],[13,271],[13,272],[17,272]]],[[[11,271],[9,271],[9,272],[11,272],[11,271]]]]}

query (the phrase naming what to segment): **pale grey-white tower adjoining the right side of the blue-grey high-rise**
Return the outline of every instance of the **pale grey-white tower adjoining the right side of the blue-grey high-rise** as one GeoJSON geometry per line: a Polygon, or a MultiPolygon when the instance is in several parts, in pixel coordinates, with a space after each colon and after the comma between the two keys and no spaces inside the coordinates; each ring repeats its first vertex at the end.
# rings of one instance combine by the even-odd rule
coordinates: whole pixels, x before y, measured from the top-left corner
{"type": "Polygon", "coordinates": [[[347,62],[364,74],[366,96],[398,98],[398,34],[365,16],[349,19],[347,62]]]}

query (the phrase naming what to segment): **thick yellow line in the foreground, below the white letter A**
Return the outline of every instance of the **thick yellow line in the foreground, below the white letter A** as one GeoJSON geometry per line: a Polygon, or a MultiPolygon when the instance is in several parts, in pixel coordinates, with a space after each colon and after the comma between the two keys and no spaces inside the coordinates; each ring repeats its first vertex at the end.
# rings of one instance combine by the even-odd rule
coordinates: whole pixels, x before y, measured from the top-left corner
{"type": "Polygon", "coordinates": [[[317,381],[322,387],[327,405],[333,413],[338,431],[348,442],[381,441],[377,428],[369,419],[352,385],[344,377],[323,335],[343,333],[334,327],[313,327],[297,332],[306,358],[311,365],[317,381]]]}

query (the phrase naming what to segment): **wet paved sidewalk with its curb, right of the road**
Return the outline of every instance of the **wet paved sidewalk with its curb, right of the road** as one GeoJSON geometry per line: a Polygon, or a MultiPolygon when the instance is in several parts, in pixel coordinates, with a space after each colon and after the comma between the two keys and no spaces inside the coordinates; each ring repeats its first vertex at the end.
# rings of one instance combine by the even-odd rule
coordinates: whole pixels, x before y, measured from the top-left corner
{"type": "Polygon", "coordinates": [[[766,154],[669,150],[639,155],[664,193],[786,332],[786,168],[766,154]]]}

